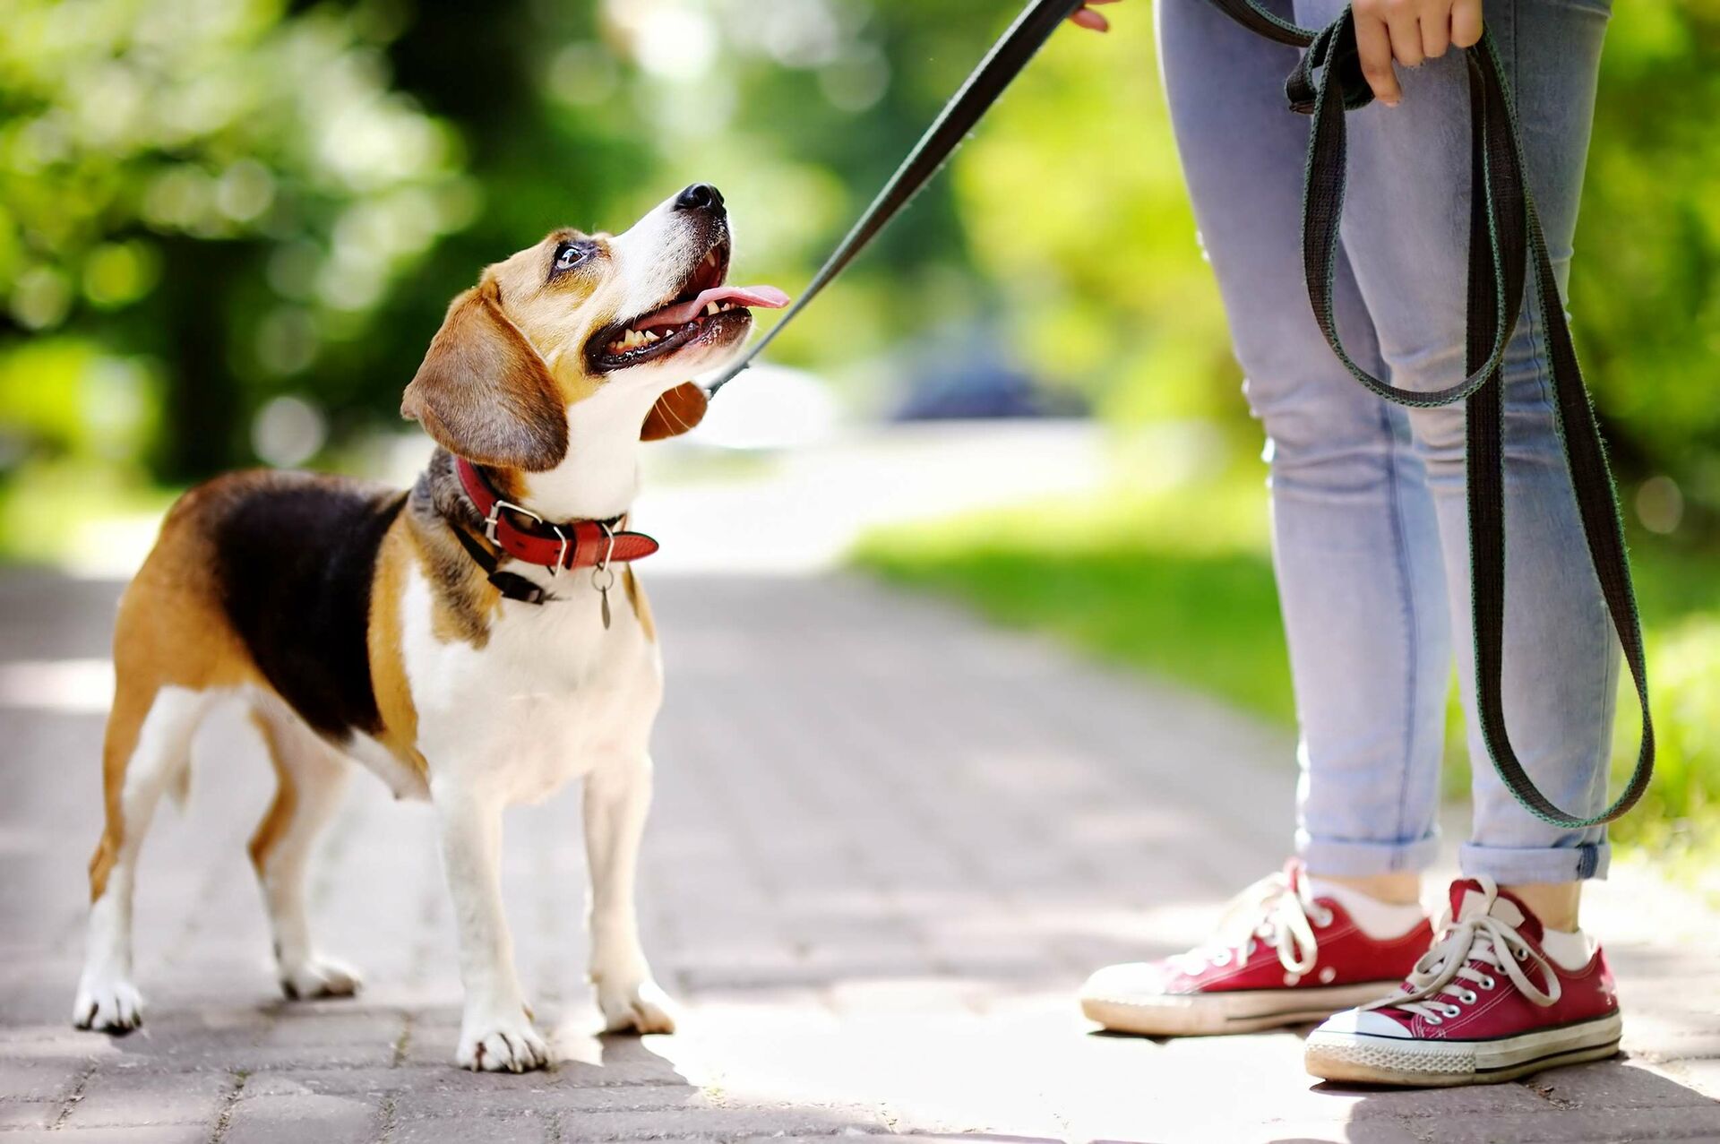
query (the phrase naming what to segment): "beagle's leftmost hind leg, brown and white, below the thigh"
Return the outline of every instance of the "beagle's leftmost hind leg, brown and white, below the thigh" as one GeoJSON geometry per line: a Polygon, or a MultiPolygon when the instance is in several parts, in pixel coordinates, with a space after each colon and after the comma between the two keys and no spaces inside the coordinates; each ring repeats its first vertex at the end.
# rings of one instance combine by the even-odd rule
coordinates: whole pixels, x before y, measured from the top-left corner
{"type": "Polygon", "coordinates": [[[155,807],[191,762],[191,736],[210,695],[119,673],[101,747],[107,826],[89,858],[89,934],[72,1022],[126,1032],[143,1024],[132,984],[131,898],[138,852],[155,807]]]}

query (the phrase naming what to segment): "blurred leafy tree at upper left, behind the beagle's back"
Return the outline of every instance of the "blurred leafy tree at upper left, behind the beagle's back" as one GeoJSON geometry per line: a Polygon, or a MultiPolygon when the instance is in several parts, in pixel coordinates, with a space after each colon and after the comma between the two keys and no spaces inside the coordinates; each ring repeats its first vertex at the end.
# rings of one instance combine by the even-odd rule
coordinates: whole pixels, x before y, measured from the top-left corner
{"type": "Polygon", "coordinates": [[[361,337],[390,284],[470,217],[458,134],[389,89],[397,31],[385,5],[9,5],[3,339],[58,330],[153,358],[160,477],[244,456],[255,396],[313,365],[322,392],[346,392],[325,348],[361,337]]]}

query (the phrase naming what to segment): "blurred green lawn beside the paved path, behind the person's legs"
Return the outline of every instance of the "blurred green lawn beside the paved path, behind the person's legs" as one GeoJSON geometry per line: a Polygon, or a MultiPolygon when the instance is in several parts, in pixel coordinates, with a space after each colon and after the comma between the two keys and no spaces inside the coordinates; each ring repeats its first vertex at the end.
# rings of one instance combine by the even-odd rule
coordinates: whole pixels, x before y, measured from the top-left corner
{"type": "MultiPolygon", "coordinates": [[[[1113,490],[1080,504],[1023,504],[862,538],[855,561],[889,581],[972,604],[1293,726],[1259,470],[1164,492],[1113,490]]],[[[1720,857],[1720,552],[1634,537],[1660,762],[1620,841],[1720,857]]],[[[1639,721],[1625,688],[1613,781],[1639,721]]],[[[1453,688],[1445,790],[1469,788],[1453,688]]]]}

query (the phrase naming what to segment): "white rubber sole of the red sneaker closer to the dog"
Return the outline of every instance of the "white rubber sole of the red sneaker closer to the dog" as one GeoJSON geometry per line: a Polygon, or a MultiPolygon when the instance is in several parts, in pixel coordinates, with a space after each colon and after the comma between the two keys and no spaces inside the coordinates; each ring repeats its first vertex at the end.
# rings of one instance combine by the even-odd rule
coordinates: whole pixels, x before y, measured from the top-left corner
{"type": "Polygon", "coordinates": [[[1257,1032],[1326,1020],[1333,1013],[1378,1001],[1402,982],[1364,981],[1355,986],[1307,989],[1238,989],[1233,993],[1170,993],[1163,996],[1084,996],[1080,1012],[1111,1032],[1144,1037],[1201,1037],[1257,1032]]]}

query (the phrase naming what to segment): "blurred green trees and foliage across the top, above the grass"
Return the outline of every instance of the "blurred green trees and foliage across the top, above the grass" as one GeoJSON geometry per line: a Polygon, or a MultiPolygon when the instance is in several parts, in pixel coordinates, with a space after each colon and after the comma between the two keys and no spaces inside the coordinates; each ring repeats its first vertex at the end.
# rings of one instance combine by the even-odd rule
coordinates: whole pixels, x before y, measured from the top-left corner
{"type": "MultiPolygon", "coordinates": [[[[48,397],[5,391],[0,482],[108,463],[115,440],[158,480],[248,463],[284,396],[332,446],[397,427],[482,265],[554,225],[621,225],[693,179],[728,194],[736,272],[793,291],[1017,9],[14,0],[0,360],[41,334],[86,353],[33,360],[48,397]],[[81,432],[79,394],[122,375],[134,420],[81,432]]],[[[1111,36],[1053,38],[779,360],[881,404],[929,339],[980,332],[1109,420],[1252,439],[1151,5],[1113,17],[1111,36]]],[[[1660,477],[1644,520],[1682,533],[1720,513],[1717,100],[1720,0],[1617,5],[1572,310],[1632,502],[1660,477]]]]}

